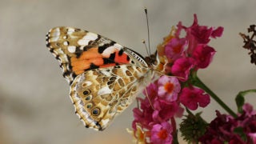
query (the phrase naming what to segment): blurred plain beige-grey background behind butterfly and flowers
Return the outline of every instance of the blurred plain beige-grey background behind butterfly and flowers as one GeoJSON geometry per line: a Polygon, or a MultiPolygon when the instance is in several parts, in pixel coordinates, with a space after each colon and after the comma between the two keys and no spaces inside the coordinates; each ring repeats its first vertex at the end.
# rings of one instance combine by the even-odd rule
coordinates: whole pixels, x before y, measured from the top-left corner
{"type": "MultiPolygon", "coordinates": [[[[224,26],[222,38],[210,42],[217,50],[214,61],[199,77],[236,110],[234,95],[256,87],[256,66],[238,35],[256,24],[254,0],[0,0],[0,143],[131,143],[126,128],[136,102],[105,131],[84,128],[58,61],[46,49],[45,35],[54,26],[74,26],[146,55],[144,6],[152,50],[171,26],[179,21],[190,26],[193,14],[201,25],[224,26]]],[[[255,106],[254,97],[247,101],[255,106]]],[[[212,101],[202,116],[210,121],[216,109],[224,112],[212,101]]]]}

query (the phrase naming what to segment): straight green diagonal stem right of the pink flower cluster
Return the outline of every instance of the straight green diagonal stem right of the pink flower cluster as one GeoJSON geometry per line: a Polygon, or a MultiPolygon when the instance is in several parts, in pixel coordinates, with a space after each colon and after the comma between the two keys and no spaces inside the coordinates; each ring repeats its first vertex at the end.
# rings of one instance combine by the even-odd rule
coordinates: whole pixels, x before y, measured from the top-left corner
{"type": "Polygon", "coordinates": [[[214,92],[213,92],[212,90],[210,90],[210,89],[196,76],[196,74],[194,75],[193,79],[194,79],[194,82],[193,82],[194,86],[198,86],[198,87],[202,88],[202,90],[205,90],[207,94],[210,94],[211,98],[214,98],[214,100],[215,100],[216,102],[218,102],[218,104],[219,104],[220,106],[222,106],[222,108],[223,108],[224,110],[226,110],[226,111],[227,111],[230,115],[232,115],[234,118],[237,118],[237,117],[238,117],[238,115],[235,114],[234,111],[231,110],[229,106],[226,106],[226,104],[225,104],[220,98],[218,98],[218,96],[217,96],[216,94],[214,94],[214,92]]]}

